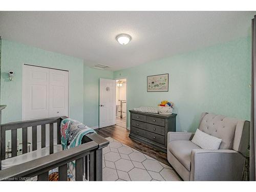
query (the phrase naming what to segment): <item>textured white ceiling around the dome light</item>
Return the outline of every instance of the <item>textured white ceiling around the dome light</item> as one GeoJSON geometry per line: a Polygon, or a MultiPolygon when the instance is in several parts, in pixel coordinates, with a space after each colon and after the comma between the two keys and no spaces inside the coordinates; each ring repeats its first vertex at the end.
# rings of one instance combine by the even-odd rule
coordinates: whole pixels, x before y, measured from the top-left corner
{"type": "Polygon", "coordinates": [[[0,12],[0,35],[116,71],[245,37],[256,12],[0,12]],[[119,45],[119,33],[132,41],[119,45]]]}

